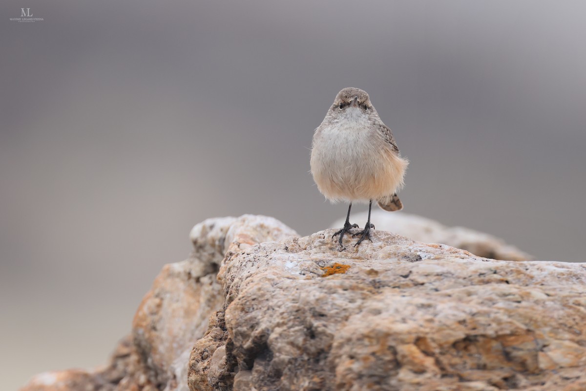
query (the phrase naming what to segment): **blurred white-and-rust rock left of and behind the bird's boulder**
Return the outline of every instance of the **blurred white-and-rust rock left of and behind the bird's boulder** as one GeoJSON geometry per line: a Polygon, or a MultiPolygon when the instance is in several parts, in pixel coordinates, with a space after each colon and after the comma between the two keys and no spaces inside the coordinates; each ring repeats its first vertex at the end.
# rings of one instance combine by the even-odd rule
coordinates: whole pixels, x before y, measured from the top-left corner
{"type": "Polygon", "coordinates": [[[35,376],[22,391],[186,391],[189,354],[224,295],[216,274],[229,249],[296,235],[272,217],[208,219],[193,227],[189,259],[166,264],[105,368],[35,376]],[[234,243],[233,243],[234,242],[234,243]]]}

